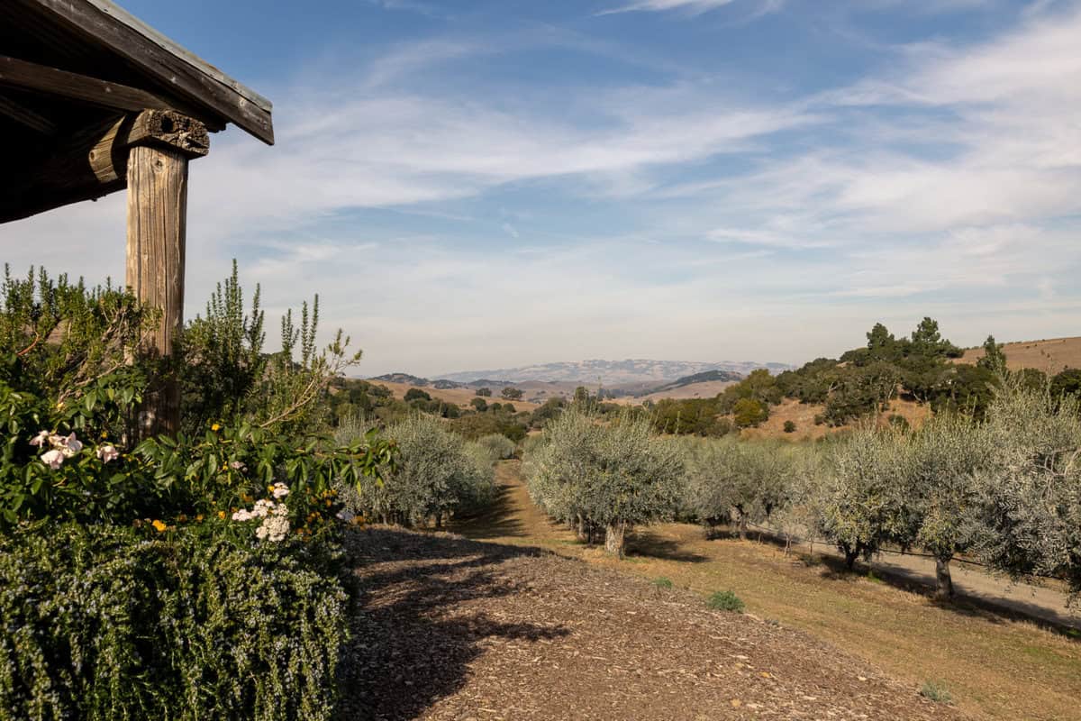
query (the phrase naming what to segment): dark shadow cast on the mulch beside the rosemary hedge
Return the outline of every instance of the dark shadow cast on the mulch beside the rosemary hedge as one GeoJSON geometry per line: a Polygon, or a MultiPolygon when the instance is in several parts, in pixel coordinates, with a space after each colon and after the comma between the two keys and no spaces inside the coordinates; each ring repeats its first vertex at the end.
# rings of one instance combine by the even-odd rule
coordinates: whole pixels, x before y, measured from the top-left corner
{"type": "Polygon", "coordinates": [[[484,599],[522,590],[499,564],[539,549],[385,528],[357,532],[347,547],[358,592],[341,664],[339,719],[417,718],[465,685],[469,663],[485,644],[569,633],[502,623],[482,609],[484,599]]]}

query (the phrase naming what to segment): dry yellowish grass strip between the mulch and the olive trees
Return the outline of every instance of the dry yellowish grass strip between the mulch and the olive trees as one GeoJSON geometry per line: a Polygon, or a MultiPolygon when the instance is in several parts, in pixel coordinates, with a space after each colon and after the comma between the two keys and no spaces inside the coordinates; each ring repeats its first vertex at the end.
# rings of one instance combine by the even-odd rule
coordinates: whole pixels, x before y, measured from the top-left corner
{"type": "MultiPolygon", "coordinates": [[[[517,462],[501,464],[498,480],[501,503],[457,531],[476,539],[540,546],[644,579],[668,578],[677,589],[702,597],[732,589],[753,617],[836,646],[839,658],[853,659],[846,662],[852,675],[863,675],[856,664],[882,669],[911,690],[913,710],[920,700],[916,691],[932,680],[945,684],[956,706],[972,718],[1081,719],[1081,640],[1076,637],[974,603],[938,604],[922,588],[866,571],[845,573],[820,557],[814,562],[786,557],[768,543],[707,540],[694,525],[637,533],[630,557],[614,561],[548,521],[530,500],[517,462]]],[[[791,663],[800,653],[793,643],[791,663]]],[[[868,718],[904,717],[883,709],[868,718]]]]}

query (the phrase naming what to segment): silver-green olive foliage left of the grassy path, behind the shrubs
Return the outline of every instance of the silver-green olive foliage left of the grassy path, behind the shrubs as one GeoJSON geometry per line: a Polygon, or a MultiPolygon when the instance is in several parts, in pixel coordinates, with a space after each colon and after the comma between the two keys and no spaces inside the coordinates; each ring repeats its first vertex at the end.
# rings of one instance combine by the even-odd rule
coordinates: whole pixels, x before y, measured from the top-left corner
{"type": "MultiPolygon", "coordinates": [[[[348,432],[348,428],[342,431],[348,432]]],[[[383,435],[398,444],[397,468],[386,473],[383,483],[346,493],[353,512],[412,525],[429,518],[438,522],[494,495],[491,452],[467,445],[439,418],[415,414],[391,424],[383,435]]]]}

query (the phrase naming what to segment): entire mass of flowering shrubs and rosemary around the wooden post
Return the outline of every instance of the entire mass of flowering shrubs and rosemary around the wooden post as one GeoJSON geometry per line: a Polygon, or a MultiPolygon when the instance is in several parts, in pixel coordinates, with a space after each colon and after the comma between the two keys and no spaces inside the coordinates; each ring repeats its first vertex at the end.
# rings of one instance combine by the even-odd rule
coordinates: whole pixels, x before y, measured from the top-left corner
{"type": "Polygon", "coordinates": [[[335,484],[377,488],[395,444],[319,433],[318,306],[240,312],[236,273],[177,357],[129,293],[44,272],[0,285],[0,721],[330,717],[345,635],[335,484]],[[293,347],[301,360],[293,359],[293,347]],[[176,437],[137,442],[148,378],[179,376],[176,437]]]}

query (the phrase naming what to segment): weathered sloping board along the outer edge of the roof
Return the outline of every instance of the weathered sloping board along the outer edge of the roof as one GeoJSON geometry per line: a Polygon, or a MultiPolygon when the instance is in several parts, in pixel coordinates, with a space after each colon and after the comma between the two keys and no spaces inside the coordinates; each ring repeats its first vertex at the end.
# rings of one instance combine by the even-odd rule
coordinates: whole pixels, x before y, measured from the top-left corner
{"type": "MultiPolygon", "coordinates": [[[[269,101],[184,51],[112,2],[19,1],[48,10],[63,19],[70,29],[108,48],[189,103],[213,110],[268,145],[273,144],[269,101]]],[[[185,110],[185,108],[177,109],[185,110]]],[[[196,116],[198,117],[198,114],[196,116]]]]}

